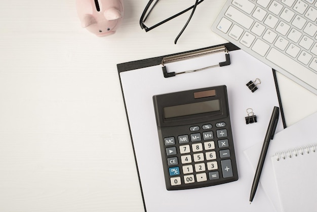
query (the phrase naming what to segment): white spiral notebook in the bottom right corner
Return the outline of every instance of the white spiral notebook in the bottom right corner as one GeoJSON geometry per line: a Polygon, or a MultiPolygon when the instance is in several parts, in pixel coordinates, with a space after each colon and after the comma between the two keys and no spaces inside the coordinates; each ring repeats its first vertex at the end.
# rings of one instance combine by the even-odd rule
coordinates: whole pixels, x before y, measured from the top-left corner
{"type": "Polygon", "coordinates": [[[317,208],[317,142],[277,152],[271,157],[282,210],[317,208]]]}

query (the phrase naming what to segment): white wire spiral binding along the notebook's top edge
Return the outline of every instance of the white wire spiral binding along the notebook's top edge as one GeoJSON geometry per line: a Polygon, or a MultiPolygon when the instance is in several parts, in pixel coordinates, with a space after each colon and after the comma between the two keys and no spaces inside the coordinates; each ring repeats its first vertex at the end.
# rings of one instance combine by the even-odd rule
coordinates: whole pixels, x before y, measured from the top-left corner
{"type": "Polygon", "coordinates": [[[299,155],[315,153],[317,149],[317,144],[305,145],[299,148],[288,149],[287,151],[276,152],[276,160],[286,159],[287,157],[292,158],[293,156],[297,157],[299,155]]]}

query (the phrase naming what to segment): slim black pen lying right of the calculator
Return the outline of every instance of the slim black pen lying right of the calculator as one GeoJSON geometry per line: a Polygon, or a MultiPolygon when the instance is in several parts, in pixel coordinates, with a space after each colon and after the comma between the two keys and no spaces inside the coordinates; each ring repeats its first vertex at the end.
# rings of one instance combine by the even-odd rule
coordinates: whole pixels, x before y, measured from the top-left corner
{"type": "Polygon", "coordinates": [[[276,126],[278,125],[279,121],[279,115],[280,115],[280,108],[274,107],[273,108],[273,113],[271,116],[270,123],[268,124],[267,132],[264,138],[264,143],[262,147],[262,151],[260,154],[259,162],[258,162],[258,167],[256,168],[253,184],[252,184],[252,189],[251,189],[251,194],[250,194],[250,204],[254,198],[256,189],[258,188],[259,180],[260,180],[260,175],[262,172],[265,156],[267,153],[268,145],[270,143],[270,140],[273,139],[274,133],[276,126]]]}

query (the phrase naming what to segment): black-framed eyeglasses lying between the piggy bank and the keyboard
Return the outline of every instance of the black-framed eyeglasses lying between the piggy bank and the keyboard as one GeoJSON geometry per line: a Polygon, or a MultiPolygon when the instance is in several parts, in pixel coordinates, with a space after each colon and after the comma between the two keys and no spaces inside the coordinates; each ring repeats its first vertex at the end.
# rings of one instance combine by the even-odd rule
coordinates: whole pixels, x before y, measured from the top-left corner
{"type": "Polygon", "coordinates": [[[154,1],[154,0],[150,0],[150,1],[147,3],[147,5],[146,5],[146,7],[145,7],[145,9],[144,9],[144,11],[143,11],[143,13],[142,13],[142,15],[141,15],[141,18],[140,18],[140,26],[141,26],[141,28],[144,29],[146,32],[149,31],[149,30],[151,30],[151,29],[153,29],[153,28],[155,28],[155,27],[157,27],[157,26],[160,26],[160,25],[162,25],[162,24],[168,22],[169,20],[172,20],[173,18],[176,18],[177,16],[179,16],[179,15],[181,15],[181,14],[183,14],[183,13],[185,13],[185,12],[187,12],[187,11],[189,11],[189,10],[192,9],[191,14],[190,14],[190,16],[189,16],[189,18],[188,18],[186,24],[184,25],[184,27],[182,28],[182,30],[179,32],[178,36],[176,37],[176,39],[175,39],[175,41],[174,41],[175,44],[177,43],[179,37],[181,36],[181,34],[182,34],[183,31],[185,30],[186,26],[188,25],[188,23],[189,23],[189,21],[190,21],[192,15],[193,15],[193,13],[195,12],[195,9],[196,9],[197,5],[199,5],[199,4],[201,4],[202,2],[204,2],[204,0],[200,0],[200,1],[199,1],[199,0],[196,0],[195,4],[194,4],[193,6],[187,8],[186,10],[183,10],[182,12],[177,13],[176,15],[173,15],[173,16],[171,16],[171,17],[165,19],[164,21],[161,21],[160,23],[157,23],[157,24],[155,24],[155,25],[153,25],[153,26],[151,26],[151,27],[147,27],[147,26],[145,26],[144,22],[146,21],[146,19],[148,18],[148,16],[149,16],[150,13],[152,12],[152,10],[153,10],[153,8],[155,7],[155,5],[157,4],[157,2],[159,2],[159,0],[156,0],[156,1],[154,2],[154,4],[152,4],[153,1],[154,1]],[[151,8],[150,8],[150,7],[151,7],[151,8]]]}

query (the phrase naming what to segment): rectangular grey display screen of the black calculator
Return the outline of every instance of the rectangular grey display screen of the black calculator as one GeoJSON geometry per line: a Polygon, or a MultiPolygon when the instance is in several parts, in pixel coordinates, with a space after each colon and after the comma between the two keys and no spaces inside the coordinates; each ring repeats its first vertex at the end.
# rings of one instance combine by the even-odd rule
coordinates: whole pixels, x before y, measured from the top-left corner
{"type": "Polygon", "coordinates": [[[164,117],[175,118],[188,115],[196,115],[203,113],[210,113],[215,111],[220,111],[220,101],[219,99],[201,101],[189,104],[175,105],[171,107],[166,107],[164,110],[164,117]]]}

